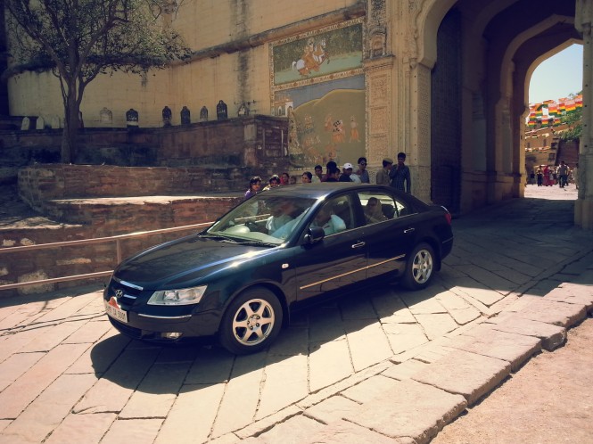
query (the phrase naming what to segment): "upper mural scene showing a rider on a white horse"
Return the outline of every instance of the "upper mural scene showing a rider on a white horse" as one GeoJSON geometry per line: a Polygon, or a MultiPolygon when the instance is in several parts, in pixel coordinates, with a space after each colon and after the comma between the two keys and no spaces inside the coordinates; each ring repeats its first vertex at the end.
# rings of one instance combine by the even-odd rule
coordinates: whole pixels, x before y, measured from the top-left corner
{"type": "Polygon", "coordinates": [[[362,23],[346,23],[272,46],[273,84],[290,84],[362,67],[362,23]]]}

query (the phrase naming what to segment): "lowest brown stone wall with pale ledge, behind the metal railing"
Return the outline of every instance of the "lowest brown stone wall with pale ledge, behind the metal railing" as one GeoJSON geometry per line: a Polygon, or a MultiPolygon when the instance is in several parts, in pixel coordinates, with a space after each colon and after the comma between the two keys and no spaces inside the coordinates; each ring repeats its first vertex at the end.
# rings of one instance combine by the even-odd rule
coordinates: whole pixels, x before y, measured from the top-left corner
{"type": "MultiPolygon", "coordinates": [[[[236,194],[236,193],[235,193],[236,194]]],[[[54,212],[62,219],[83,219],[82,224],[37,226],[29,229],[0,229],[2,247],[18,247],[41,243],[58,243],[117,234],[151,231],[173,226],[186,226],[214,221],[242,200],[235,196],[146,197],[132,199],[96,199],[54,201],[54,212]]],[[[121,256],[195,232],[156,234],[150,237],[121,241],[121,256]]],[[[0,250],[2,250],[0,248],[0,250]]],[[[53,277],[83,275],[111,270],[117,266],[115,243],[55,247],[47,250],[0,252],[0,284],[30,282],[53,277]]],[[[0,290],[0,298],[29,293],[50,292],[89,282],[105,282],[108,278],[70,281],[0,290]]]]}

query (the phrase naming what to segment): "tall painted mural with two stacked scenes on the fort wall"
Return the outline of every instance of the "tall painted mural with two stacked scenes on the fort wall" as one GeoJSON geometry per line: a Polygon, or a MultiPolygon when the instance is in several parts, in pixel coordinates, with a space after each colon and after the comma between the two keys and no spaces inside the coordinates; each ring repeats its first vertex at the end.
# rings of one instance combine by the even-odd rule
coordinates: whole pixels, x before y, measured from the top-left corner
{"type": "Polygon", "coordinates": [[[289,119],[294,167],[366,152],[362,21],[344,22],[270,45],[272,114],[289,119]]]}

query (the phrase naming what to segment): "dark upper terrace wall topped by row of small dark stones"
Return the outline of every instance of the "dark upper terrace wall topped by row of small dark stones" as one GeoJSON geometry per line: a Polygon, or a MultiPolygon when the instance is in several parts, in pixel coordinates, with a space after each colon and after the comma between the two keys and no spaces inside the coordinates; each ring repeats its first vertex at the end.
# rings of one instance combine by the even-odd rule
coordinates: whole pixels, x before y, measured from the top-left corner
{"type": "MultiPolygon", "coordinates": [[[[78,165],[122,167],[249,167],[265,173],[288,169],[288,119],[250,116],[177,127],[81,128],[78,165]]],[[[61,158],[61,129],[0,129],[0,167],[20,168],[61,158]]]]}

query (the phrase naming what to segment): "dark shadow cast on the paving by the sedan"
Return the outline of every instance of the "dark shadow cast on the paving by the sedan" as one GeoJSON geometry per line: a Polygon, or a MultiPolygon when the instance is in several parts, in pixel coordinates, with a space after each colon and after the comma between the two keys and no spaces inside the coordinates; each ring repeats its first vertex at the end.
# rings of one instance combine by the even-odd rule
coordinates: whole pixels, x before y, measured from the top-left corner
{"type": "MultiPolygon", "coordinates": [[[[442,292],[440,284],[421,292],[410,292],[398,284],[373,284],[364,292],[345,293],[338,299],[298,311],[293,315],[291,325],[283,328],[268,349],[251,355],[235,356],[213,339],[160,345],[130,340],[116,333],[97,342],[91,349],[90,358],[97,376],[131,390],[177,393],[182,390],[182,385],[187,386],[184,391],[202,390],[261,372],[267,366],[282,365],[297,356],[309,358],[330,342],[342,341],[352,333],[380,325],[383,317],[408,310],[404,300],[422,303],[439,292],[442,292]],[[380,302],[374,303],[375,300],[380,302]],[[177,375],[178,383],[171,384],[168,374],[179,372],[183,375],[177,375]]],[[[370,346],[372,344],[368,344],[370,346]]],[[[356,371],[358,369],[352,369],[345,377],[356,371]]]]}

